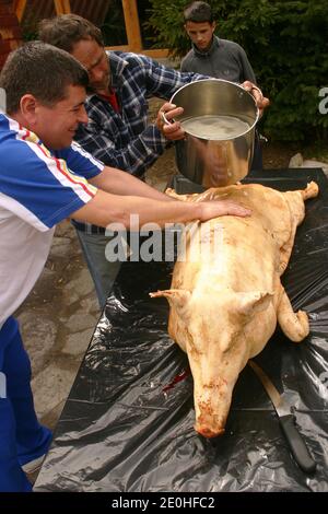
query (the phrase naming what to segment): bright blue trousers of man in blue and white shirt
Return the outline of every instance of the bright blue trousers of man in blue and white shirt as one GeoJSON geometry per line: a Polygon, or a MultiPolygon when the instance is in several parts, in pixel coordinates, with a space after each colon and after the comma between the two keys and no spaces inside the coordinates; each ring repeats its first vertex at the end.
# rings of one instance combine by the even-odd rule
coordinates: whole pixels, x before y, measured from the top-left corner
{"type": "Polygon", "coordinates": [[[47,453],[51,432],[37,421],[30,359],[13,317],[0,330],[0,491],[27,492],[21,466],[47,453]]]}

